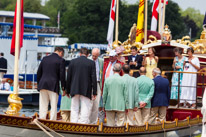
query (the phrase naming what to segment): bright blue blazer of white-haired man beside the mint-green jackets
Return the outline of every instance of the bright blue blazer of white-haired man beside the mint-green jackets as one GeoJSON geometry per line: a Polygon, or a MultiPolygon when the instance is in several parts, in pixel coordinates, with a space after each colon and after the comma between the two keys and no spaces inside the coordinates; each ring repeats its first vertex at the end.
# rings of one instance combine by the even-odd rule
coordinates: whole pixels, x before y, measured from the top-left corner
{"type": "Polygon", "coordinates": [[[152,107],[169,106],[170,86],[169,81],[162,76],[154,79],[155,90],[152,98],[152,107]]]}

